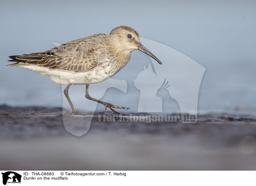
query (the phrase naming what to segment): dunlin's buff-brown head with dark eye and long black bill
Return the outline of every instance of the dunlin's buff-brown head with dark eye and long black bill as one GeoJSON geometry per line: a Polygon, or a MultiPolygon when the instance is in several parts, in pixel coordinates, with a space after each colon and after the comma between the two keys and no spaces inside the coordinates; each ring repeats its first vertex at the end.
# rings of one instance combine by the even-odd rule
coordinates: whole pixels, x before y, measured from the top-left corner
{"type": "Polygon", "coordinates": [[[116,52],[131,53],[133,50],[140,50],[151,58],[156,60],[159,64],[162,62],[157,59],[148,49],[140,43],[140,36],[136,30],[128,26],[118,26],[111,30],[109,34],[109,42],[115,48],[116,52]]]}

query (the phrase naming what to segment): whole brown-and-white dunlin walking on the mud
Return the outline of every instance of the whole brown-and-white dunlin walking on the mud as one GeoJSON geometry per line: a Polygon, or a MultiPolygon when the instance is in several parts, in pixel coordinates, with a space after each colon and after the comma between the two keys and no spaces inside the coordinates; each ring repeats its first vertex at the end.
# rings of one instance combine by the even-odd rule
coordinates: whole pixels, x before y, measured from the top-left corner
{"type": "Polygon", "coordinates": [[[49,76],[50,80],[67,85],[64,94],[74,114],[77,114],[69,96],[70,85],[86,84],[85,97],[99,102],[105,107],[129,109],[102,102],[89,96],[89,84],[104,81],[118,73],[129,61],[131,52],[139,49],[162,64],[156,56],[140,43],[136,30],[128,26],[118,26],[109,35],[95,34],[70,41],[45,52],[12,55],[11,67],[21,67],[49,76]]]}

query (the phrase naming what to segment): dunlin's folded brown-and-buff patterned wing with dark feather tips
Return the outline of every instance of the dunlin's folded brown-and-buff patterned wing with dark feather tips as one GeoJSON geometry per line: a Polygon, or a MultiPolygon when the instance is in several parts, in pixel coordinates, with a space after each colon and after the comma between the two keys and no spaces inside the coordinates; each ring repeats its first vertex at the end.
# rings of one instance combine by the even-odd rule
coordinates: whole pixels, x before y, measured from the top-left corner
{"type": "Polygon", "coordinates": [[[13,55],[15,64],[9,66],[35,65],[47,67],[51,70],[65,70],[72,72],[86,72],[96,68],[105,58],[107,50],[107,35],[96,34],[86,38],[70,41],[56,46],[45,52],[13,55]]]}

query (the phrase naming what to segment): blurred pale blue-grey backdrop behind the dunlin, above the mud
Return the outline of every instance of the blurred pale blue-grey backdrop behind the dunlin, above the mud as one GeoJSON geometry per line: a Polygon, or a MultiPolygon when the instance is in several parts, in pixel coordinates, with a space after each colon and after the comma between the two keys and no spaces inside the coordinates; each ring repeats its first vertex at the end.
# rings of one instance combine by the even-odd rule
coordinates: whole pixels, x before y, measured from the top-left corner
{"type": "MultiPolygon", "coordinates": [[[[54,47],[52,42],[63,44],[96,33],[108,34],[116,26],[127,25],[141,37],[170,46],[206,67],[198,97],[199,114],[239,111],[254,115],[255,6],[253,0],[3,1],[0,104],[62,106],[60,85],[38,73],[6,67],[9,55],[45,51],[54,47]]],[[[130,91],[136,92],[134,78],[149,62],[136,50],[113,78],[125,79],[130,91]]],[[[125,99],[131,100],[128,94],[125,99]]]]}

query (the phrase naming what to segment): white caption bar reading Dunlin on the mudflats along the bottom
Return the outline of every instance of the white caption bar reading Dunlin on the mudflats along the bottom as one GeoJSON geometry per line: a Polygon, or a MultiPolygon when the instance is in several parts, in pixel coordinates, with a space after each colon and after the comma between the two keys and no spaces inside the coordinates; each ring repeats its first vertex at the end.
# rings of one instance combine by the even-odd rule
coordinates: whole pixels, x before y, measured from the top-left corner
{"type": "MultiPolygon", "coordinates": [[[[1,171],[1,182],[12,186],[72,185],[255,185],[256,171],[1,171]],[[20,177],[21,176],[21,177],[20,177]]],[[[1,183],[2,184],[2,183],[1,183]]]]}

